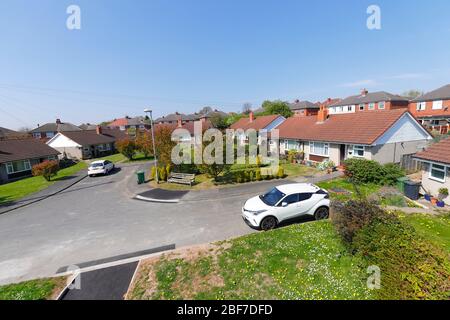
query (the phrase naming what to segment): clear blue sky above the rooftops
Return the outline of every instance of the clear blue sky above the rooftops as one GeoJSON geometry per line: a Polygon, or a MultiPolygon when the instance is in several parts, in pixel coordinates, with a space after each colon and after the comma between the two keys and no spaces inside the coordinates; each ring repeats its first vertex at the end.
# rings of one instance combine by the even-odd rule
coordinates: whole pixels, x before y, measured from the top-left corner
{"type": "Polygon", "coordinates": [[[431,90],[450,83],[449,12],[448,0],[2,0],[0,126],[431,90]],[[370,4],[380,31],[366,28],[370,4]]]}

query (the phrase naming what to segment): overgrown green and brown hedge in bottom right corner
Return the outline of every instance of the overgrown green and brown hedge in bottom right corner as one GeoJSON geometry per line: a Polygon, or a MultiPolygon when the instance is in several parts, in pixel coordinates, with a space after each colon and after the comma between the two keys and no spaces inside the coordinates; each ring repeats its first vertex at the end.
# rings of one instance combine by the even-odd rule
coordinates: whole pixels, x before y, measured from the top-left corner
{"type": "Polygon", "coordinates": [[[380,268],[378,298],[450,298],[448,254],[394,214],[367,201],[349,201],[333,205],[332,221],[353,254],[380,268]]]}

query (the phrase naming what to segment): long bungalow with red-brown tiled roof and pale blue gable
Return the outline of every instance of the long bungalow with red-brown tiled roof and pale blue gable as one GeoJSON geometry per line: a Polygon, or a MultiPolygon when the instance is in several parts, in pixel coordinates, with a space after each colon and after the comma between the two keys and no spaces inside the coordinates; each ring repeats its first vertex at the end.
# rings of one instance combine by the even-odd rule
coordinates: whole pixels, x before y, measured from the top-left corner
{"type": "Polygon", "coordinates": [[[318,116],[292,117],[277,129],[282,154],[301,151],[305,160],[335,165],[349,158],[398,163],[432,139],[406,109],[328,115],[321,106],[318,116]]]}

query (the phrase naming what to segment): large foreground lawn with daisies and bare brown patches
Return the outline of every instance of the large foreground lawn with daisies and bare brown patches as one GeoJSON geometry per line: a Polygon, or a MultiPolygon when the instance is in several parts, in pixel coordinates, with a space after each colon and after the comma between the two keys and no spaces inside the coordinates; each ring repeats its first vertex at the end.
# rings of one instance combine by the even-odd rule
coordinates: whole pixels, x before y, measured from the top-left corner
{"type": "Polygon", "coordinates": [[[364,262],[329,221],[149,259],[129,299],[371,299],[364,262]]]}

